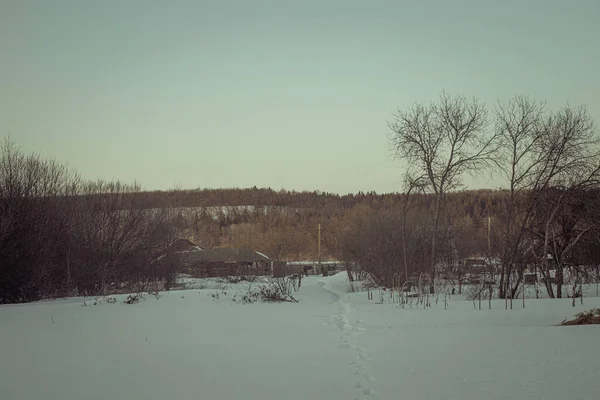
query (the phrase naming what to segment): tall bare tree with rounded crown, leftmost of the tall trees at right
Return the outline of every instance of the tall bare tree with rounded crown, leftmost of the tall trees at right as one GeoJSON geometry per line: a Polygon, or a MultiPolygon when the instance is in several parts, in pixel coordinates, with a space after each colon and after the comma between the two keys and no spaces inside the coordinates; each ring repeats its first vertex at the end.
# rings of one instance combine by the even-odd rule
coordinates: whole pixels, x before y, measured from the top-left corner
{"type": "Polygon", "coordinates": [[[435,194],[430,252],[430,292],[434,291],[437,236],[445,195],[460,186],[465,174],[476,174],[496,162],[499,135],[488,132],[487,111],[476,99],[443,93],[437,104],[415,104],[398,110],[389,124],[390,148],[435,194]]]}

